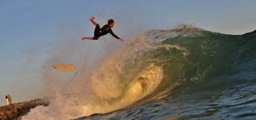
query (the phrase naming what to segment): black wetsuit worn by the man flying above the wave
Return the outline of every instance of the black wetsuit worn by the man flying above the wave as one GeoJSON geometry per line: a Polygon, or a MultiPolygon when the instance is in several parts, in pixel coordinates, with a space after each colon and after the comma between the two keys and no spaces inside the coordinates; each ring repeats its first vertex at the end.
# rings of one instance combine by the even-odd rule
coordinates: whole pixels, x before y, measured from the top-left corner
{"type": "Polygon", "coordinates": [[[102,28],[100,28],[100,25],[97,24],[94,30],[94,37],[93,39],[97,40],[99,39],[99,37],[101,37],[102,35],[106,35],[110,33],[111,35],[113,35],[113,37],[119,39],[119,37],[117,37],[117,35],[115,35],[113,33],[113,31],[111,30],[109,25],[104,25],[102,28]]]}

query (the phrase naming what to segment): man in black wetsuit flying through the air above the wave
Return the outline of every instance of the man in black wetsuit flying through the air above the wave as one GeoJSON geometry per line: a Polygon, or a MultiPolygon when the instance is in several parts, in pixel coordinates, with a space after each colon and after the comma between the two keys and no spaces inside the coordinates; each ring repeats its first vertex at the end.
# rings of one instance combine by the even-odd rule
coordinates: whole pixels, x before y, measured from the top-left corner
{"type": "Polygon", "coordinates": [[[99,37],[110,33],[111,35],[113,35],[113,37],[115,37],[119,41],[124,41],[123,39],[117,37],[117,35],[115,35],[113,33],[113,31],[111,30],[111,28],[113,28],[113,26],[114,26],[114,20],[113,19],[109,19],[108,24],[104,25],[102,28],[100,28],[100,25],[98,23],[96,23],[95,21],[93,21],[93,19],[94,19],[94,17],[89,18],[89,21],[91,21],[91,23],[93,23],[93,25],[96,26],[95,30],[94,30],[94,37],[83,37],[82,40],[84,40],[84,39],[98,40],[99,37]]]}

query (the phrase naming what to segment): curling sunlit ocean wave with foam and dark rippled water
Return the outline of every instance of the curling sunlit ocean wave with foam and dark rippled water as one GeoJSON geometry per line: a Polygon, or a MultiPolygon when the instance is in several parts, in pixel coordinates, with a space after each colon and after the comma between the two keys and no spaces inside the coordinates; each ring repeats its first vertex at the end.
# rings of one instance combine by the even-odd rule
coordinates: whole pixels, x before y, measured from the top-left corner
{"type": "Polygon", "coordinates": [[[54,101],[23,119],[256,119],[256,31],[149,30],[90,79],[86,102],[64,102],[56,115],[54,101]]]}

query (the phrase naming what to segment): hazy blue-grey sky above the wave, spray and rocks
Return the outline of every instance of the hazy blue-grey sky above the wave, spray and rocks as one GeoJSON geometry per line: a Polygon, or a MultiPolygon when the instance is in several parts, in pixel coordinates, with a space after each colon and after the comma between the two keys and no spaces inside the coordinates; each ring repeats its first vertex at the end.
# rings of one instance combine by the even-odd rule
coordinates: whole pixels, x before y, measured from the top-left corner
{"type": "Polygon", "coordinates": [[[1,0],[0,106],[6,104],[6,94],[12,95],[14,103],[45,95],[42,66],[49,46],[61,43],[62,35],[74,34],[63,31],[67,26],[79,35],[93,35],[94,26],[88,21],[92,15],[100,25],[115,19],[113,31],[124,39],[134,32],[181,23],[244,34],[256,30],[255,5],[252,0],[1,0]]]}

